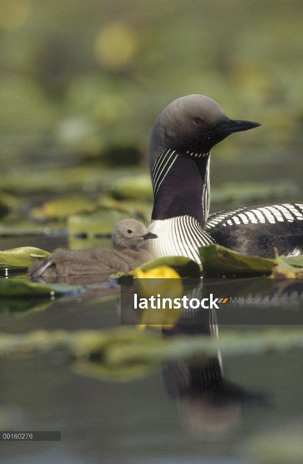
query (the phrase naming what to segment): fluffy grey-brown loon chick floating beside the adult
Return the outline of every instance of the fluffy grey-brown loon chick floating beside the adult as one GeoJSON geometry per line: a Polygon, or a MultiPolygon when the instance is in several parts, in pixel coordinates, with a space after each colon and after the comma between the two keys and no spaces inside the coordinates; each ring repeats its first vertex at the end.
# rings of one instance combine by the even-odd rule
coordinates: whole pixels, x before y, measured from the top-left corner
{"type": "Polygon", "coordinates": [[[36,278],[129,272],[153,260],[152,253],[139,248],[150,238],[158,236],[148,232],[143,224],[135,219],[122,219],[113,229],[113,248],[79,251],[59,249],[49,255],[43,263],[33,263],[29,268],[29,275],[36,278]]]}

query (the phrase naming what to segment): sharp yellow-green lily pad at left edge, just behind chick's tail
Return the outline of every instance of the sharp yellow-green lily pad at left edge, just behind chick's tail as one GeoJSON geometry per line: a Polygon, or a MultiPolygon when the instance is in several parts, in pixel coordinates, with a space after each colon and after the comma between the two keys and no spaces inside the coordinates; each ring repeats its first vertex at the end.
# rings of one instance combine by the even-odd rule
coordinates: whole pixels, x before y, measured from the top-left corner
{"type": "Polygon", "coordinates": [[[33,246],[21,246],[0,251],[0,265],[29,267],[34,261],[45,260],[49,254],[51,253],[33,246]]]}

